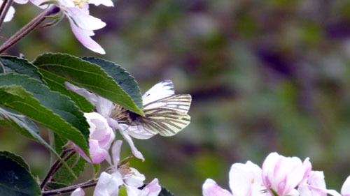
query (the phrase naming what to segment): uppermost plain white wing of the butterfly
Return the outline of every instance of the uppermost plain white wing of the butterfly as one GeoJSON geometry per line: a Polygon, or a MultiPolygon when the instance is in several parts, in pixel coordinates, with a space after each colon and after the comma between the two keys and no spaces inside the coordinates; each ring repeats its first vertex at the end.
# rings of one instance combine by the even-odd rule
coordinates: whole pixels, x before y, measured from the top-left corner
{"type": "Polygon", "coordinates": [[[174,95],[174,85],[171,80],[163,80],[152,86],[151,89],[146,91],[142,96],[142,102],[144,105],[151,103],[155,100],[165,98],[174,95]]]}

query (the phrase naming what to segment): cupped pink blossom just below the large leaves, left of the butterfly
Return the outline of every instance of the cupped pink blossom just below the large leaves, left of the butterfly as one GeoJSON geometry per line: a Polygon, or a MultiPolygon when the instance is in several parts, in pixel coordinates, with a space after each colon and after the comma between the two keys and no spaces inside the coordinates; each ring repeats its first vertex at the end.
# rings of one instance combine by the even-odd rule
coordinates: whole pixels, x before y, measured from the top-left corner
{"type": "Polygon", "coordinates": [[[84,116],[90,125],[89,153],[92,160],[75,144],[74,147],[88,162],[94,164],[101,163],[106,158],[109,147],[114,140],[114,132],[101,114],[91,112],[84,113],[84,116]]]}

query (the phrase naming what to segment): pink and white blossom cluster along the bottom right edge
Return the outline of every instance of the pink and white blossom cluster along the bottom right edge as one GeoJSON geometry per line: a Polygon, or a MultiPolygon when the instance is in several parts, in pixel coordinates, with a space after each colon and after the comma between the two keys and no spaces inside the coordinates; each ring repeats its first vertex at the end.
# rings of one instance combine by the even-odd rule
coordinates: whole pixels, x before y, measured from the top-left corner
{"type": "Polygon", "coordinates": [[[325,187],[323,172],[312,171],[309,158],[303,162],[297,157],[270,153],[262,168],[248,161],[235,163],[229,173],[232,192],[218,186],[212,179],[203,184],[204,196],[346,196],[350,195],[350,176],[340,193],[325,187]]]}

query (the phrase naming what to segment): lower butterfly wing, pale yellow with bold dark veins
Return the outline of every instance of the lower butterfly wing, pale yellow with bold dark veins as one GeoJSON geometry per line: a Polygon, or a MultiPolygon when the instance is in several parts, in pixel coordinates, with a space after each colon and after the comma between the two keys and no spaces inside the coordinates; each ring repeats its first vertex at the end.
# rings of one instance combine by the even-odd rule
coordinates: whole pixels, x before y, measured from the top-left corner
{"type": "Polygon", "coordinates": [[[162,136],[172,136],[190,123],[190,116],[178,110],[168,108],[152,108],[144,110],[145,117],[139,118],[138,123],[153,133],[162,136]]]}

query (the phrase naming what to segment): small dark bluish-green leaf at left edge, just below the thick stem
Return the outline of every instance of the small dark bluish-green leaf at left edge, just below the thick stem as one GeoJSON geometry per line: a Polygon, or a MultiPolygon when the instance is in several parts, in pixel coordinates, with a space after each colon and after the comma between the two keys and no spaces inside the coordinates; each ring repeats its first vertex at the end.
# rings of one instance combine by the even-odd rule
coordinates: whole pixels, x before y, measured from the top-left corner
{"type": "Polygon", "coordinates": [[[43,77],[38,72],[38,68],[26,59],[16,56],[0,56],[0,73],[18,73],[29,75],[36,80],[43,82],[43,77]]]}

